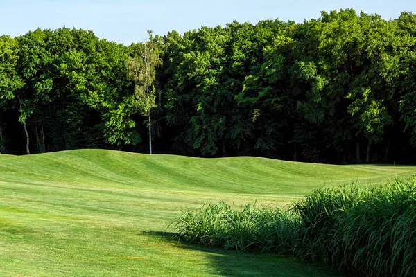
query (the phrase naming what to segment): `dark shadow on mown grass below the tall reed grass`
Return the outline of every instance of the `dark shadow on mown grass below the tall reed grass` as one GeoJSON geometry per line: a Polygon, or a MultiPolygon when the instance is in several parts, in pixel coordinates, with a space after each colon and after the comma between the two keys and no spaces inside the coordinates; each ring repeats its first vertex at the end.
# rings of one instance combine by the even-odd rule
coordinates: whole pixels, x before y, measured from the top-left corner
{"type": "MultiPolygon", "coordinates": [[[[242,253],[211,247],[201,247],[195,244],[183,244],[175,233],[146,232],[146,235],[158,240],[172,243],[183,249],[202,251],[209,262],[207,266],[215,267],[214,271],[220,276],[254,277],[254,276],[293,276],[293,277],[334,277],[346,276],[331,270],[330,267],[316,263],[302,262],[293,258],[278,256],[276,254],[242,253]]],[[[349,275],[349,277],[352,277],[349,275]]]]}

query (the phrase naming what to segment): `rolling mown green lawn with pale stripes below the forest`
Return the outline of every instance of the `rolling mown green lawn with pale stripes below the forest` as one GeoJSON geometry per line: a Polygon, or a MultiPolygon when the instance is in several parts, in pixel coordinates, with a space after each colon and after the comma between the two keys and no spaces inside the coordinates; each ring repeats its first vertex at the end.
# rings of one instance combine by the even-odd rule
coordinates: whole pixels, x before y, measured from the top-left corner
{"type": "Polygon", "coordinates": [[[286,204],[324,184],[415,173],[106,150],[0,155],[0,276],[325,276],[273,255],[186,247],[160,232],[180,207],[286,204]]]}

